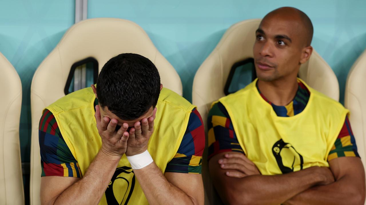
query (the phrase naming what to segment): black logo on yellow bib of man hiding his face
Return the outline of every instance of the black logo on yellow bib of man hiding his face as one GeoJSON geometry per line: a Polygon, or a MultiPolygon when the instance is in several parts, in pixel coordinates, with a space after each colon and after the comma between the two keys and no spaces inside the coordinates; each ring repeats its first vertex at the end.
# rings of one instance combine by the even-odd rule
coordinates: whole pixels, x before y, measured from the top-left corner
{"type": "Polygon", "coordinates": [[[131,167],[117,167],[107,190],[105,198],[108,205],[127,205],[135,187],[135,174],[131,167]]]}

